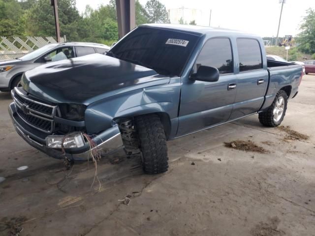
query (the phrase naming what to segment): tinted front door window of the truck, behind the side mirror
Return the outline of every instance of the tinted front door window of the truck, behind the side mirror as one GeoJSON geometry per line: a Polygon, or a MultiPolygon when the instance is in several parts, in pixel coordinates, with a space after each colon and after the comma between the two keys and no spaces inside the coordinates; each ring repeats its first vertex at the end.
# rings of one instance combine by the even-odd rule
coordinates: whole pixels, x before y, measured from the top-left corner
{"type": "Polygon", "coordinates": [[[216,67],[220,74],[233,73],[230,40],[228,38],[209,39],[198,55],[194,65],[194,71],[196,72],[201,65],[216,67]]]}

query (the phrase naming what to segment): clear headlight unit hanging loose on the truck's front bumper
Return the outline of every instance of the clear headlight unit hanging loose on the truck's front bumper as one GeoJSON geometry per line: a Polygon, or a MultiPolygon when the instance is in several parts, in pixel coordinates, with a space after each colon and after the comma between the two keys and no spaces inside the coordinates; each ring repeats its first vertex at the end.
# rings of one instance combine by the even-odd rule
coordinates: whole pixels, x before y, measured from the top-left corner
{"type": "Polygon", "coordinates": [[[46,137],[46,145],[49,148],[81,148],[85,145],[82,134],[49,135],[46,137]]]}

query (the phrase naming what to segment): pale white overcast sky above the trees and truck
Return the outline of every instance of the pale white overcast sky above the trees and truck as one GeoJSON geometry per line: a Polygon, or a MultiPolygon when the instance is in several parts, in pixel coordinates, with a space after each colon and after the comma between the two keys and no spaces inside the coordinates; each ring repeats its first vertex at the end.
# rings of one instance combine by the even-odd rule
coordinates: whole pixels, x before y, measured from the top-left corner
{"type": "MultiPolygon", "coordinates": [[[[139,0],[145,5],[147,0],[139,0]]],[[[77,8],[83,12],[86,4],[97,8],[108,4],[109,0],[76,0],[77,8]]],[[[276,36],[281,3],[279,0],[160,0],[166,9],[193,8],[201,10],[202,21],[199,25],[252,32],[262,37],[276,36]]],[[[286,0],[284,3],[279,36],[296,35],[306,10],[315,9],[315,0],[286,0]]],[[[185,20],[185,19],[184,19],[185,20]]]]}

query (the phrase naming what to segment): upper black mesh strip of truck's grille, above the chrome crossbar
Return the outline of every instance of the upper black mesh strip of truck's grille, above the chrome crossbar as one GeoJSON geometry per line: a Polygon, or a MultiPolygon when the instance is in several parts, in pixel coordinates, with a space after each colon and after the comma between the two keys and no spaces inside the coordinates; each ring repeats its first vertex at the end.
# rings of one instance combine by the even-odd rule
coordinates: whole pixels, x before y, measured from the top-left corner
{"type": "Polygon", "coordinates": [[[14,98],[21,104],[24,104],[29,107],[32,111],[41,114],[41,115],[48,115],[49,117],[53,117],[54,107],[46,104],[42,104],[41,102],[37,102],[31,99],[24,97],[23,95],[19,94],[18,90],[14,91],[14,98]]]}

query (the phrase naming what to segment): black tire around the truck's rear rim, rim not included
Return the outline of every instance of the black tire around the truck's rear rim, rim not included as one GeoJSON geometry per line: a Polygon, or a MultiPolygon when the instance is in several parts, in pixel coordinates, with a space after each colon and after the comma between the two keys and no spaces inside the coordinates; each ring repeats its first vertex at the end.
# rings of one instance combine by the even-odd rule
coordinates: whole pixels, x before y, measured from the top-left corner
{"type": "Polygon", "coordinates": [[[259,115],[258,115],[259,122],[262,125],[267,126],[267,127],[276,127],[276,126],[280,125],[281,122],[284,120],[286,107],[287,107],[286,92],[284,90],[280,90],[277,92],[275,100],[273,101],[271,106],[266,111],[259,113],[259,115]],[[274,111],[274,108],[276,106],[276,102],[278,101],[279,97],[281,97],[281,96],[284,98],[284,112],[282,114],[281,119],[279,121],[275,121],[273,111],[274,111]]]}

